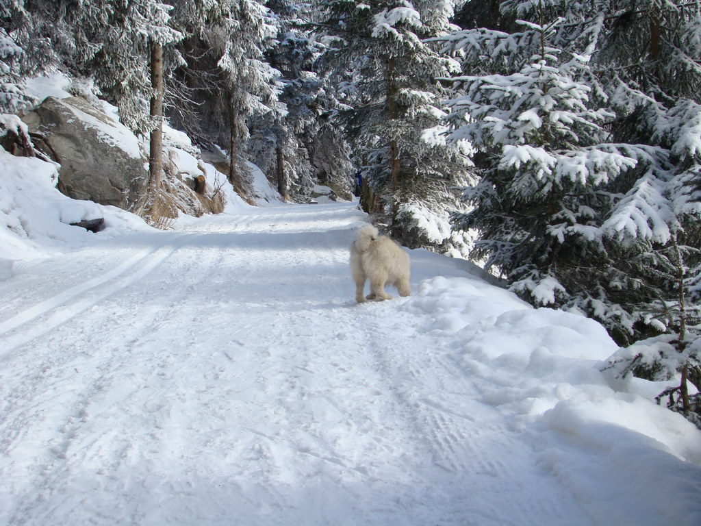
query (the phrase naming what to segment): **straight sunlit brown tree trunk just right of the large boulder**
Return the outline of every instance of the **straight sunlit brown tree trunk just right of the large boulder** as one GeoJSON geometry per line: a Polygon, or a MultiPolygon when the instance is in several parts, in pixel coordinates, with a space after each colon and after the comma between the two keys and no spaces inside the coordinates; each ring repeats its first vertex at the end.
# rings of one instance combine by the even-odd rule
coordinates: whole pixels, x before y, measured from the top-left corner
{"type": "Polygon", "coordinates": [[[151,130],[149,144],[149,193],[155,195],[163,178],[163,46],[151,41],[151,118],[156,128],[151,130]]]}

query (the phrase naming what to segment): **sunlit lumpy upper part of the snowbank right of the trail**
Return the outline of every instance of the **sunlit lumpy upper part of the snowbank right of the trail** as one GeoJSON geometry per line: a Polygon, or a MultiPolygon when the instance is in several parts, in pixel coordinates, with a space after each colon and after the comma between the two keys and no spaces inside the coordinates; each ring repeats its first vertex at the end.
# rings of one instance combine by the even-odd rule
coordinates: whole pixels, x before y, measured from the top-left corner
{"type": "MultiPolygon", "coordinates": [[[[511,292],[473,278],[423,281],[403,308],[428,314],[433,332],[456,340],[461,367],[489,379],[482,401],[507,410],[514,426],[538,422],[588,442],[593,424],[621,426],[648,437],[659,450],[701,464],[700,433],[693,424],[641,396],[637,382],[612,386],[602,374],[604,360],[618,346],[596,321],[533,309],[511,292]]],[[[647,391],[667,386],[646,383],[655,384],[647,391]]]]}

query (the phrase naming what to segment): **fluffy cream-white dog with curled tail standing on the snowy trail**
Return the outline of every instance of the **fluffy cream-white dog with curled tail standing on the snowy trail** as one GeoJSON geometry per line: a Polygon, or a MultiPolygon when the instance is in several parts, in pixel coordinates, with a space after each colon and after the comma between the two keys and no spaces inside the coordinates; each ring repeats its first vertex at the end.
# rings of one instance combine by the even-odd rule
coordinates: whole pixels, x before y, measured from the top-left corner
{"type": "Polygon", "coordinates": [[[385,285],[397,287],[400,296],[411,294],[409,255],[392,239],[380,236],[372,224],[362,227],[351,245],[351,274],[358,303],[365,302],[363,293],[368,279],[370,293],[367,299],[376,302],[392,299],[392,295],[385,292],[385,285]]]}

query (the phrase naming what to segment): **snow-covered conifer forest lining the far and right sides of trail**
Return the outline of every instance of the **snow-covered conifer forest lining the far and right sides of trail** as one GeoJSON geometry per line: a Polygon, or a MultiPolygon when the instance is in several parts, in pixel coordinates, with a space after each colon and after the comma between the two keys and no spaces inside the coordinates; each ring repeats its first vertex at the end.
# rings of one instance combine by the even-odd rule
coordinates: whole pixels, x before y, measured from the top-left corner
{"type": "Polygon", "coordinates": [[[0,18],[1,112],[61,72],[149,137],[135,213],[158,224],[164,120],[236,188],[244,161],[297,202],[362,181],[404,245],[601,322],[619,375],[681,373],[660,397],[700,425],[700,1],[0,0],[0,18]]]}

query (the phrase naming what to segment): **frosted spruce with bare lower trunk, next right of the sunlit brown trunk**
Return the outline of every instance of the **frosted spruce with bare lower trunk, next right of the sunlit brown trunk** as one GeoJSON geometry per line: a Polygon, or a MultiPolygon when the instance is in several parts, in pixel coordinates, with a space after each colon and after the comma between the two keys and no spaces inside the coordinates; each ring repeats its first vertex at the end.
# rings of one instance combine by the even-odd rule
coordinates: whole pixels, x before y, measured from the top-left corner
{"type": "Polygon", "coordinates": [[[182,96],[172,100],[169,115],[198,144],[229,152],[229,179],[245,193],[240,160],[250,126],[260,116],[282,111],[277,72],[264,60],[279,22],[256,0],[177,0],[175,5],[175,23],[187,37],[178,48],[183,62],[175,72],[182,96]]]}

